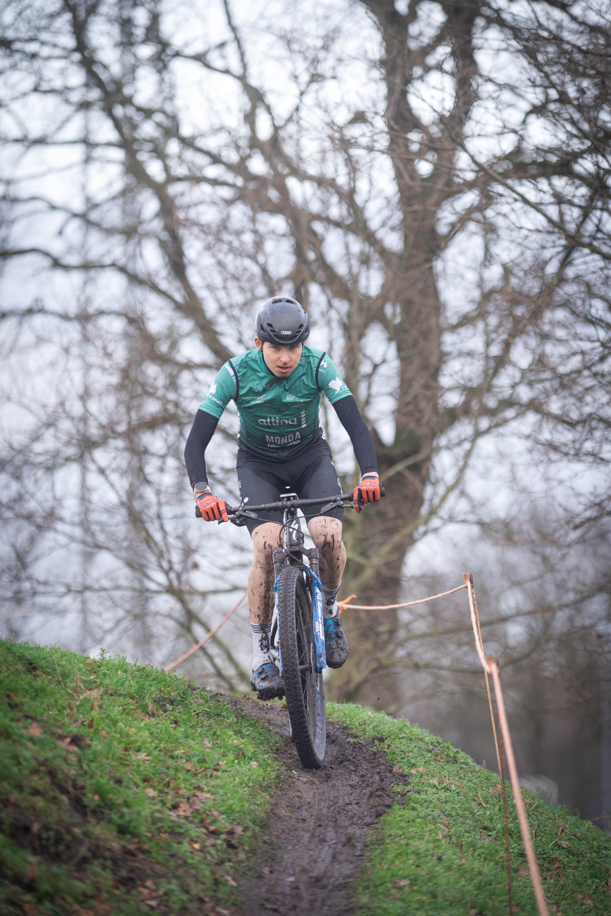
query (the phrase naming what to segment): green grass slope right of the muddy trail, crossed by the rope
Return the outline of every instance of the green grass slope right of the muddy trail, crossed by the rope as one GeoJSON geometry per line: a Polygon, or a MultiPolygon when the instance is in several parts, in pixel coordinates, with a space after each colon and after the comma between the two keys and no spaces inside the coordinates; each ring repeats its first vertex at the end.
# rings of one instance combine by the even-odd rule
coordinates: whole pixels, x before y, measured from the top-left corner
{"type": "MultiPolygon", "coordinates": [[[[357,911],[376,916],[507,914],[503,807],[498,777],[405,719],[352,704],[327,715],[376,737],[409,791],[380,819],[355,889],[357,911]],[[383,740],[380,740],[383,739],[383,740]]],[[[564,808],[524,792],[551,913],[611,913],[611,838],[564,808]]],[[[519,916],[537,913],[518,816],[509,799],[512,893],[519,916]],[[519,908],[519,909],[518,909],[519,908]]]]}

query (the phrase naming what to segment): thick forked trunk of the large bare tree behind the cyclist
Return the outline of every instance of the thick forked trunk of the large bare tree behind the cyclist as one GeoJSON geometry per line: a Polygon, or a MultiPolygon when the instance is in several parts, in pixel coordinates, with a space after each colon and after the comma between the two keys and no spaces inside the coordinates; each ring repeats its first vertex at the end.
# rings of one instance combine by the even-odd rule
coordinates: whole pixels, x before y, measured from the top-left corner
{"type": "MultiPolygon", "coordinates": [[[[385,325],[397,344],[400,369],[395,441],[385,446],[376,437],[378,469],[386,496],[380,506],[368,507],[365,515],[354,518],[346,513],[348,563],[342,594],[354,592],[358,604],[390,605],[401,600],[401,567],[419,524],[433,441],[442,426],[442,303],[434,276],[434,259],[442,250],[442,240],[436,220],[440,207],[454,190],[452,175],[458,147],[453,135],[463,127],[475,98],[471,33],[477,6],[449,6],[446,10],[442,32],[443,39],[453,48],[454,105],[452,114],[438,122],[442,136],[436,136],[434,168],[423,177],[417,168],[423,153],[420,149],[414,151],[414,141],[409,136],[415,130],[425,137],[429,134],[408,99],[411,74],[422,64],[422,52],[410,49],[408,41],[409,23],[415,13],[399,14],[391,0],[365,0],[365,5],[376,16],[384,38],[380,66],[387,87],[388,153],[398,187],[403,234],[401,254],[384,255],[387,282],[379,299],[380,311],[368,316],[365,324],[377,318],[385,325]],[[398,306],[397,323],[383,312],[386,301],[398,306]]],[[[354,311],[351,323],[352,327],[346,328],[348,377],[357,375],[354,360],[358,358],[358,348],[350,345],[351,332],[355,333],[354,311]]],[[[375,425],[376,418],[369,419],[375,425]]],[[[351,664],[333,675],[330,686],[334,696],[390,713],[398,711],[400,685],[393,657],[397,627],[398,613],[394,610],[345,612],[351,664]]]]}

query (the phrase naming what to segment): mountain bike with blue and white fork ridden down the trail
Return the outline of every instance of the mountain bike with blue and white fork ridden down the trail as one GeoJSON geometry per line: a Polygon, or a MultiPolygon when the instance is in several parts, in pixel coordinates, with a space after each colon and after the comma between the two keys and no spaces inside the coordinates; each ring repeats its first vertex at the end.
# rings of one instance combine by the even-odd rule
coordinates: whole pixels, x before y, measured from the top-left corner
{"type": "MultiPolygon", "coordinates": [[[[384,496],[383,487],[380,493],[384,496]]],[[[319,512],[341,507],[353,498],[352,493],[334,496],[319,512]]],[[[276,582],[270,646],[284,681],[290,737],[305,769],[319,769],[324,759],[326,713],[322,671],[327,666],[318,548],[304,546],[297,510],[320,505],[320,499],[298,499],[295,493],[288,493],[278,502],[263,506],[226,506],[227,515],[238,526],[245,525],[246,518],[260,518],[258,512],[280,508],[284,511],[283,546],[273,552],[276,582]]]]}

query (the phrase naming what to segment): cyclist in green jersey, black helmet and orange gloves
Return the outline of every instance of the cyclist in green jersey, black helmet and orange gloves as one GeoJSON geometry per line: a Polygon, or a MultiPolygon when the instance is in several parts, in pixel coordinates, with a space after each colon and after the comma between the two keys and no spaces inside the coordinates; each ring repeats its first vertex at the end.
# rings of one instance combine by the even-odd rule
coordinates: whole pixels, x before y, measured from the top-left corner
{"type": "MultiPolygon", "coordinates": [[[[225,504],[213,496],[204,452],[230,400],[239,416],[237,476],[240,500],[246,505],[277,502],[283,493],[300,499],[321,497],[305,513],[308,529],[320,552],[322,608],[326,661],[341,668],[348,644],[337,613],[337,593],[346,554],[342,542],[343,508],[319,511],[342,492],[331,449],[319,422],[322,392],[333,404],[352,441],[361,470],[354,507],[380,498],[376,448],[355,398],[331,358],[305,344],[310,320],[297,300],[275,296],[256,316],[256,349],[228,360],[195,416],[185,446],[185,463],[193,498],[206,521],[227,521],[225,504]]],[[[255,548],[248,575],[248,610],[253,635],[250,684],[259,699],[284,694],[284,684],[269,652],[273,614],[272,552],[282,547],[283,513],[266,513],[268,520],[246,519],[255,548]]]]}

